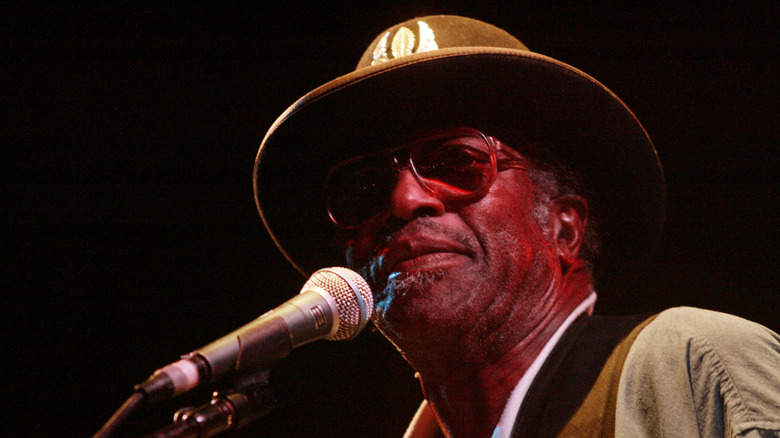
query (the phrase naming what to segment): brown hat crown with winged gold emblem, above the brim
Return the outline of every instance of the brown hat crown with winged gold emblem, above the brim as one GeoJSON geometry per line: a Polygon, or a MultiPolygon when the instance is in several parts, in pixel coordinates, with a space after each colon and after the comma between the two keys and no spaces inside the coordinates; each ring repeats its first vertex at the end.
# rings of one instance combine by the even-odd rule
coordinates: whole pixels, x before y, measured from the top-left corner
{"type": "Polygon", "coordinates": [[[453,47],[528,50],[517,38],[492,24],[455,15],[431,15],[404,21],[379,34],[363,52],[357,69],[453,47]]]}

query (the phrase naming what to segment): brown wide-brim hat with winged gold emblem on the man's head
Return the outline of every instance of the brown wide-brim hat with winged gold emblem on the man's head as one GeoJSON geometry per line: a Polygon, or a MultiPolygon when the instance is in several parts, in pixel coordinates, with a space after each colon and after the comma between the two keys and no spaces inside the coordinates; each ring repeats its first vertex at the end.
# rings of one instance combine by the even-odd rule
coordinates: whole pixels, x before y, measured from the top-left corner
{"type": "Polygon", "coordinates": [[[663,172],[642,124],[589,75],[495,26],[455,16],[382,32],[354,72],[306,94],[271,126],[254,186],[274,242],[304,275],[343,264],[322,194],[330,167],[451,126],[564,159],[583,177],[598,218],[599,288],[624,287],[641,272],[665,210],[663,172]]]}

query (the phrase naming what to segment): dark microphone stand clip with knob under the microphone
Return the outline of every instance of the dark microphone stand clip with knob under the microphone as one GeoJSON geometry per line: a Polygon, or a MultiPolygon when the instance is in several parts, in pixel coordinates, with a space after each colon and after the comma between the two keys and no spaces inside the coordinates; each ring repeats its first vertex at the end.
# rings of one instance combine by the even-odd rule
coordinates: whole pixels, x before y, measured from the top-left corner
{"type": "Polygon", "coordinates": [[[266,369],[236,377],[232,389],[215,392],[205,405],[179,409],[172,424],[144,438],[207,438],[252,423],[274,407],[269,373],[266,369]]]}

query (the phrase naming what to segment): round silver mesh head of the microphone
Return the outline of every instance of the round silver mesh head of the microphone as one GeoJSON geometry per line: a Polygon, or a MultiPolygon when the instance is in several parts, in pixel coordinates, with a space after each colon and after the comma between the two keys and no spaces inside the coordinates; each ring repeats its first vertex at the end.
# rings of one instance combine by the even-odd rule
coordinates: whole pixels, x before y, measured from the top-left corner
{"type": "Polygon", "coordinates": [[[338,329],[325,339],[341,341],[352,339],[363,330],[374,313],[374,295],[363,277],[357,272],[340,267],[324,268],[309,277],[302,291],[319,287],[336,302],[334,322],[338,329]]]}

